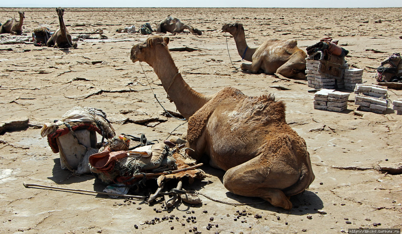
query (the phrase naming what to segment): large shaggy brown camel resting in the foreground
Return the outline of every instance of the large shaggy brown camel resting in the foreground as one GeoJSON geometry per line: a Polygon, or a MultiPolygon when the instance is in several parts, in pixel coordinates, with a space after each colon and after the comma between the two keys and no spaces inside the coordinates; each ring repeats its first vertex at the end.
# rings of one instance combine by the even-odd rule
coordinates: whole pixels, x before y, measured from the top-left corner
{"type": "Polygon", "coordinates": [[[168,50],[169,38],[151,36],[131,48],[130,59],[154,68],[177,110],[189,121],[187,147],[199,160],[226,171],[230,192],[260,197],[273,206],[291,209],[290,196],[314,180],[306,142],[287,125],[285,104],[275,97],[250,97],[224,88],[205,96],[183,80],[168,50]]]}

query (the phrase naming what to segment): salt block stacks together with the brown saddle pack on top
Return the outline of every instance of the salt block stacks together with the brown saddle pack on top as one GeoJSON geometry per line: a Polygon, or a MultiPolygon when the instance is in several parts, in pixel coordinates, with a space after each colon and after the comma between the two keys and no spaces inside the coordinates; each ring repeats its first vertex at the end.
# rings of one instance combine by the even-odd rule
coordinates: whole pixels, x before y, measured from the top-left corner
{"type": "Polygon", "coordinates": [[[363,70],[349,69],[345,61],[349,51],[340,47],[338,41],[324,38],[306,50],[308,87],[353,90],[356,84],[362,83],[363,70]]]}

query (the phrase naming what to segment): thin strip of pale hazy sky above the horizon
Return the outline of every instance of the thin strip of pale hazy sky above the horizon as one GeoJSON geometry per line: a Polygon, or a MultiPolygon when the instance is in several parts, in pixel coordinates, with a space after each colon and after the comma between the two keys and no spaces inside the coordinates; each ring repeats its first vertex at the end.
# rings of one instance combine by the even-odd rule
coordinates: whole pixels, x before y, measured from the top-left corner
{"type": "Polygon", "coordinates": [[[1,0],[0,7],[402,7],[402,0],[1,0]]]}

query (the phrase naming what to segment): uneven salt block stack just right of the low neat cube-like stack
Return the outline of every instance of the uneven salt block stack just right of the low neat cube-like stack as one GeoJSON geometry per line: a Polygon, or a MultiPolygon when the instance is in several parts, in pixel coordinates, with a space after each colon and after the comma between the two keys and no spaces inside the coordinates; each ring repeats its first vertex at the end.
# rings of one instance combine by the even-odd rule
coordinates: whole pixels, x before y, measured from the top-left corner
{"type": "Polygon", "coordinates": [[[387,109],[387,87],[357,84],[355,94],[355,104],[359,105],[362,111],[382,114],[387,109]]]}

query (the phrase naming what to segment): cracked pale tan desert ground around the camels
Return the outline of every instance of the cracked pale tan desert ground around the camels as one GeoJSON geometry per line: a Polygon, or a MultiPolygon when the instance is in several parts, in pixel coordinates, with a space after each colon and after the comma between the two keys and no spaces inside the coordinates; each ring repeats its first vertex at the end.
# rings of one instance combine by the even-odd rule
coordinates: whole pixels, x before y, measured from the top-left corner
{"type": "MultiPolygon", "coordinates": [[[[44,24],[57,30],[54,8],[0,8],[0,22],[17,17],[19,10],[25,11],[23,32],[28,36],[0,35],[0,122],[20,123],[2,129],[0,135],[1,233],[190,233],[194,227],[202,233],[342,233],[374,225],[401,228],[402,117],[392,104],[384,114],[359,111],[355,94],[349,91],[346,111],[316,110],[307,80],[236,70],[244,62],[234,39],[221,28],[241,22],[250,47],[278,38],[295,39],[305,50],[321,38],[332,37],[349,50],[349,65],[364,70],[363,83],[377,84],[373,77],[380,62],[402,52],[402,8],[66,8],[64,22],[73,38],[96,29],[107,36],[79,40],[77,49],[68,50],[37,47],[27,40],[33,29],[44,24]],[[193,89],[211,95],[231,86],[246,95],[271,93],[285,102],[287,123],[306,140],[316,176],[307,191],[291,198],[291,210],[267,202],[231,206],[201,196],[202,206],[178,203],[170,213],[166,209],[156,213],[154,208],[161,209],[163,200],[152,204],[133,200],[135,204],[127,205],[123,198],[23,186],[27,182],[105,188],[90,176],[61,170],[59,155],[40,136],[43,123],[60,119],[71,107],[102,109],[117,134],[145,133],[148,139],[163,141],[187,131],[185,121],[163,115],[154,99],[152,91],[167,110],[176,111],[152,67],[130,61],[131,47],[148,36],[116,32],[146,22],[156,28],[169,14],[203,31],[201,36],[158,34],[170,38],[169,48],[195,49],[171,52],[193,89]],[[374,22],[379,19],[381,23],[374,22]],[[275,88],[279,86],[288,90],[275,88]],[[238,210],[250,215],[235,221],[238,210]],[[256,214],[262,218],[255,218],[256,214]],[[179,220],[143,224],[170,215],[179,220]],[[183,215],[195,216],[196,222],[186,222],[183,215]],[[211,230],[206,229],[208,223],[211,230]]],[[[402,97],[402,91],[389,89],[388,95],[393,101],[402,97]]],[[[228,192],[222,184],[224,171],[208,165],[201,169],[211,177],[184,188],[225,202],[261,201],[228,192]]]]}

